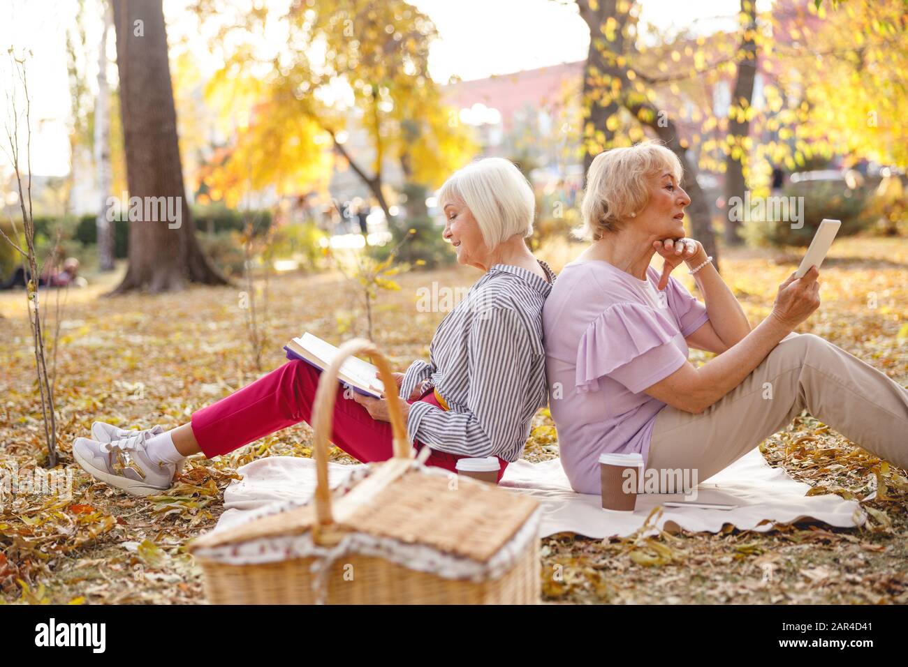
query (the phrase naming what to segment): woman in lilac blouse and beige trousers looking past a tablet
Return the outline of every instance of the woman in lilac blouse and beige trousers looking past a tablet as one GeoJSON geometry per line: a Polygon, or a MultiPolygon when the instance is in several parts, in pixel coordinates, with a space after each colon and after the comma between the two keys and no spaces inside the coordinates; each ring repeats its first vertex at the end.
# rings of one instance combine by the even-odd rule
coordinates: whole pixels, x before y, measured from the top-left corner
{"type": "Polygon", "coordinates": [[[789,276],[751,329],[712,258],[685,238],[681,175],[656,142],[602,152],[587,173],[579,232],[592,243],[543,309],[551,414],[574,489],[600,492],[608,453],[639,454],[658,471],[649,479],[689,471],[684,484],[696,486],[804,408],[908,466],[908,391],[824,338],[793,333],[819,306],[816,267],[789,276]],[[656,253],[661,273],[650,266],[656,253]],[[682,262],[705,304],[670,277],[682,262]],[[717,356],[695,368],[688,346],[717,356]]]}

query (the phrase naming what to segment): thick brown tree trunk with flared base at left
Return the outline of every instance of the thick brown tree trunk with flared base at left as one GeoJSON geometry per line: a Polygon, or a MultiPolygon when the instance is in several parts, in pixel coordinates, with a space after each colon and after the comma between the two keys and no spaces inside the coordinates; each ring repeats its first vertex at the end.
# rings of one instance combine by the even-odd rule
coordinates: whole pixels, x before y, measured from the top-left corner
{"type": "Polygon", "coordinates": [[[183,188],[162,0],[114,0],[130,203],[129,268],[114,293],[229,284],[205,257],[183,188]],[[136,200],[135,198],[138,198],[136,200]]]}

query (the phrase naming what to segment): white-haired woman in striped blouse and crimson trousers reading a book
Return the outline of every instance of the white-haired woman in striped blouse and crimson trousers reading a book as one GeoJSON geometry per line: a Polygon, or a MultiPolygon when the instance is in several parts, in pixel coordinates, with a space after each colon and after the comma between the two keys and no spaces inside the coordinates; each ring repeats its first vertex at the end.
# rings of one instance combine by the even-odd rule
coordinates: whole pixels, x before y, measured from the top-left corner
{"type": "MultiPolygon", "coordinates": [[[[535,201],[511,162],[487,158],[442,186],[445,240],[460,264],[485,274],[442,319],[429,362],[395,373],[414,447],[428,446],[429,466],[456,469],[459,458],[497,456],[498,479],[516,461],[530,420],[548,403],[542,305],[555,281],[524,240],[533,231],[535,201]]],[[[95,422],[92,437],[74,441],[87,472],[133,495],[173,484],[186,456],[212,457],[301,421],[311,422],[321,371],[292,360],[192,414],[183,426],[123,430],[95,422]]],[[[387,400],[338,387],[332,441],[362,462],[391,456],[387,400]]]]}

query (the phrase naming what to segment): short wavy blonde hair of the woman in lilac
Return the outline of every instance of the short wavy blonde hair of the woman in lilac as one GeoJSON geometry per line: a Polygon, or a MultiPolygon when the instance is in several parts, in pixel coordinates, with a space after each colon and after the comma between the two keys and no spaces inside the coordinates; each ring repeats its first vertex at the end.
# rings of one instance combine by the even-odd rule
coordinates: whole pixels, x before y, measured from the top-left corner
{"type": "Polygon", "coordinates": [[[574,235],[599,240],[607,231],[620,230],[622,221],[631,213],[643,211],[649,202],[647,179],[665,170],[681,182],[681,162],[660,142],[641,142],[600,152],[589,165],[587,188],[580,204],[583,223],[574,235]]]}

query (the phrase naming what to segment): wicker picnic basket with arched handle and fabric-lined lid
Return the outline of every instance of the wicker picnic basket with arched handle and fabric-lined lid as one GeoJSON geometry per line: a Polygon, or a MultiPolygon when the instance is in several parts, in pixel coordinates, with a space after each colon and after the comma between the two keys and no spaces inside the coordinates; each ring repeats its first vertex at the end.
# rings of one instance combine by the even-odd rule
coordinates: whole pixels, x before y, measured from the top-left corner
{"type": "Polygon", "coordinates": [[[394,456],[358,468],[331,491],[328,438],[344,359],[378,348],[341,347],[313,409],[317,486],[311,501],[202,535],[188,550],[211,603],[538,603],[538,502],[413,458],[396,392],[387,393],[394,456]]]}

